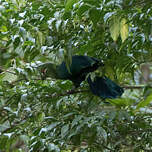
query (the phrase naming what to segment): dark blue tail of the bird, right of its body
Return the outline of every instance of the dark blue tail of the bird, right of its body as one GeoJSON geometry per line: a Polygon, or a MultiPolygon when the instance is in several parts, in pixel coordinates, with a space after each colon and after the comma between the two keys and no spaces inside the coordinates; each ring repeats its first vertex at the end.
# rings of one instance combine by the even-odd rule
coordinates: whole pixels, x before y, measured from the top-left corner
{"type": "Polygon", "coordinates": [[[90,76],[87,79],[91,92],[101,98],[117,98],[120,97],[124,90],[115,82],[107,77],[95,77],[91,80],[90,76]]]}

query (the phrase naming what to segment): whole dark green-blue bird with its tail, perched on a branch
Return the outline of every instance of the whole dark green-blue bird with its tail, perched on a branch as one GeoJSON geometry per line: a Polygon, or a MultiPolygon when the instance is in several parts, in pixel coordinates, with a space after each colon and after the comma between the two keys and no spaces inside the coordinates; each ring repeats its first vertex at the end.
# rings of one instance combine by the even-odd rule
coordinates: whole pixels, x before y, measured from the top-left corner
{"type": "MultiPolygon", "coordinates": [[[[61,80],[71,80],[75,87],[79,87],[81,82],[85,80],[88,73],[103,66],[103,62],[93,57],[74,55],[72,56],[72,64],[67,69],[66,63],[63,61],[60,65],[53,63],[44,63],[39,66],[42,78],[52,77],[61,80]]],[[[87,78],[91,92],[101,98],[116,98],[122,95],[123,89],[116,83],[106,77],[95,77],[91,80],[87,78]]]]}

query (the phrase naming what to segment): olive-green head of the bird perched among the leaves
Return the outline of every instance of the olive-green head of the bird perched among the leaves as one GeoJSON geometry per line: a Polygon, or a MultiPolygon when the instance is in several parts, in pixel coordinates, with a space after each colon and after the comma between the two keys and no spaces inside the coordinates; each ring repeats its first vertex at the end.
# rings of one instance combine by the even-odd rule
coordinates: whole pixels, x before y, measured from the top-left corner
{"type": "Polygon", "coordinates": [[[38,70],[43,80],[47,77],[57,78],[56,65],[53,63],[41,64],[38,66],[38,70]]]}

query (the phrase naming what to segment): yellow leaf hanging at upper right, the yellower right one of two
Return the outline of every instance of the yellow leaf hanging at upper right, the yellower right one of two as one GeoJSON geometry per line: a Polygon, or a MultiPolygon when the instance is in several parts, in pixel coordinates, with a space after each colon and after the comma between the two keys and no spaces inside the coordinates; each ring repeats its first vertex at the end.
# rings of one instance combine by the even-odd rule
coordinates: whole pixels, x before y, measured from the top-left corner
{"type": "Polygon", "coordinates": [[[129,26],[127,20],[125,18],[122,18],[120,22],[120,36],[122,42],[124,42],[127,39],[128,35],[129,35],[129,26]]]}

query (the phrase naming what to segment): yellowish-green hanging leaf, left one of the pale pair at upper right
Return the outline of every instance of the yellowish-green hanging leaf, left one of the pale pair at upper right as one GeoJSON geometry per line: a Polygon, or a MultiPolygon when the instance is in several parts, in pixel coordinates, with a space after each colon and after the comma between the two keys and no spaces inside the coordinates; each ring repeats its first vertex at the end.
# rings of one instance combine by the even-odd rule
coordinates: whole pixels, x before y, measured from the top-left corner
{"type": "Polygon", "coordinates": [[[120,19],[118,16],[114,15],[112,16],[112,18],[110,19],[110,34],[111,37],[114,41],[117,41],[118,37],[119,37],[119,33],[120,33],[120,19]]]}

